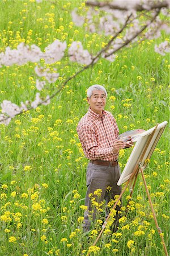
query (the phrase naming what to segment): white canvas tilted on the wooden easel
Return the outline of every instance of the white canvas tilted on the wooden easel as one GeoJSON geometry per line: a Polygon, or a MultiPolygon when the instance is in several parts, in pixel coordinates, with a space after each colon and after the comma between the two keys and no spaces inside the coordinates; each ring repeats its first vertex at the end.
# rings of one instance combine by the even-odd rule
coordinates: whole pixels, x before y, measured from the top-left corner
{"type": "Polygon", "coordinates": [[[141,136],[138,138],[138,141],[136,142],[133,148],[133,151],[131,152],[131,155],[128,159],[128,162],[126,163],[124,171],[120,176],[120,179],[118,180],[117,185],[121,185],[122,183],[129,180],[130,175],[133,173],[134,169],[138,166],[139,162],[142,163],[141,166],[143,166],[145,163],[145,160],[150,159],[152,152],[154,151],[156,144],[158,143],[167,123],[168,123],[167,121],[159,123],[155,133],[154,133],[155,127],[152,127],[150,130],[147,130],[141,134],[141,136]],[[150,138],[153,133],[154,133],[154,136],[150,141],[150,138]]]}

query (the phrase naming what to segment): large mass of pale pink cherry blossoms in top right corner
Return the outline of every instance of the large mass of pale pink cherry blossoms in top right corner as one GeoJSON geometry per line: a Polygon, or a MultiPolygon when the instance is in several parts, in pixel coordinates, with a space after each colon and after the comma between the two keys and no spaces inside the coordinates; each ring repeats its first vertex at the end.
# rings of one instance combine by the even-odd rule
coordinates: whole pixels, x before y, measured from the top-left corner
{"type": "MultiPolygon", "coordinates": [[[[147,31],[142,35],[143,39],[153,39],[158,38],[161,35],[161,31],[165,30],[169,34],[169,27],[165,20],[160,19],[159,16],[152,21],[155,13],[162,9],[162,14],[168,16],[168,7],[170,6],[170,1],[155,1],[155,0],[114,0],[114,1],[87,1],[86,4],[90,8],[84,13],[86,13],[86,18],[80,13],[80,10],[75,9],[72,12],[73,21],[77,26],[82,25],[85,21],[88,24],[88,30],[90,32],[97,32],[99,34],[103,33],[105,36],[114,36],[121,27],[124,25],[126,19],[130,15],[130,20],[128,26],[124,28],[124,32],[119,40],[114,40],[110,45],[108,54],[105,53],[102,56],[110,61],[114,61],[114,56],[111,53],[116,49],[120,48],[120,44],[124,45],[126,42],[134,43],[137,42],[138,35],[140,34],[143,26],[146,25],[147,31]],[[98,9],[96,9],[98,7],[98,9]],[[140,12],[143,11],[142,14],[140,12]],[[140,19],[141,16],[145,19],[140,19]],[[118,41],[118,44],[117,44],[118,41]],[[109,58],[108,58],[109,55],[109,58]]],[[[116,38],[117,39],[117,38],[116,38]]],[[[141,40],[141,38],[140,38],[141,40]]],[[[107,50],[108,51],[108,50],[107,50]]]]}

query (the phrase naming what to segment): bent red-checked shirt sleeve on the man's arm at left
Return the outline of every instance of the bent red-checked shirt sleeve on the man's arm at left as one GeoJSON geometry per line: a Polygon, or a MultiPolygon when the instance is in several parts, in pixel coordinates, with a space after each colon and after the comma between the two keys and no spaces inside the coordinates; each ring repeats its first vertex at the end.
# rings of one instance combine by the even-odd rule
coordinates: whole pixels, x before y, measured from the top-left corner
{"type": "Polygon", "coordinates": [[[79,140],[82,143],[84,154],[88,159],[103,159],[107,156],[113,156],[113,148],[101,148],[96,141],[95,131],[90,126],[83,126],[78,130],[79,140]]]}

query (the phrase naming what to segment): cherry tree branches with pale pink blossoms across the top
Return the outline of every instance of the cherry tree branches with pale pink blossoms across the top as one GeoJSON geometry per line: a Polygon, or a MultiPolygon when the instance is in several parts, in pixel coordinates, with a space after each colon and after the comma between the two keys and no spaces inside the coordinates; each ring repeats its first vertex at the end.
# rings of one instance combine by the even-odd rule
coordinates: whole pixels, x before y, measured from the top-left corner
{"type": "MultiPolygon", "coordinates": [[[[37,3],[39,2],[41,1],[37,0],[37,3]]],[[[86,22],[88,31],[103,34],[109,38],[105,47],[101,48],[95,55],[84,49],[82,42],[73,42],[68,47],[66,42],[55,40],[44,49],[44,52],[35,44],[27,46],[20,43],[16,49],[6,47],[5,52],[0,53],[0,68],[14,64],[23,65],[28,61],[38,63],[35,67],[35,73],[37,77],[43,77],[45,80],[36,80],[36,89],[39,92],[36,93],[36,98],[32,102],[25,100],[25,102],[20,102],[20,106],[18,106],[9,100],[4,100],[1,104],[0,123],[8,125],[11,118],[16,115],[35,109],[39,105],[48,105],[67,82],[95,65],[100,58],[114,61],[122,48],[129,47],[130,44],[135,46],[138,40],[142,42],[147,39],[159,38],[162,30],[169,34],[167,24],[169,5],[169,0],[87,1],[84,10],[81,10],[82,13],[78,9],[74,9],[71,14],[76,26],[82,26],[86,22]],[[56,61],[64,60],[66,56],[69,56],[70,61],[79,64],[78,71],[67,77],[61,87],[51,96],[47,95],[42,98],[40,91],[46,84],[56,82],[60,74],[57,73],[57,69],[50,72],[45,65],[43,67],[40,64],[41,59],[44,59],[45,64],[53,64],[56,61]]],[[[155,52],[160,55],[165,55],[169,51],[168,40],[155,45],[155,52]]]]}

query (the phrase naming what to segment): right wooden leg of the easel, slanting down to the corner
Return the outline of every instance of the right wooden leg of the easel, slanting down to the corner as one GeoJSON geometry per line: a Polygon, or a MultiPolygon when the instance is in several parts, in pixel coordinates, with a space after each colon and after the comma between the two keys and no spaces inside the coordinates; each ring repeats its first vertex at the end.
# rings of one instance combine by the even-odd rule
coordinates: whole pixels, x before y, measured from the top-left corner
{"type": "MultiPolygon", "coordinates": [[[[159,228],[158,226],[158,221],[156,219],[156,214],[155,214],[155,210],[154,210],[154,207],[152,205],[152,201],[151,201],[151,197],[150,197],[150,193],[148,191],[148,188],[147,188],[147,184],[146,184],[146,180],[145,180],[145,176],[143,174],[143,168],[140,166],[140,170],[141,170],[141,174],[142,174],[142,179],[143,179],[143,183],[145,184],[145,189],[146,189],[146,193],[147,193],[147,197],[148,197],[148,200],[149,200],[149,203],[150,203],[150,207],[151,207],[151,210],[152,210],[152,214],[154,216],[154,220],[155,220],[155,224],[156,224],[156,228],[158,230],[158,233],[162,233],[162,230],[159,228]]],[[[168,256],[168,251],[167,251],[167,247],[165,246],[165,242],[164,242],[164,238],[163,236],[160,236],[161,237],[161,240],[162,240],[162,244],[163,244],[163,247],[164,247],[164,251],[165,251],[165,255],[168,256]]]]}

